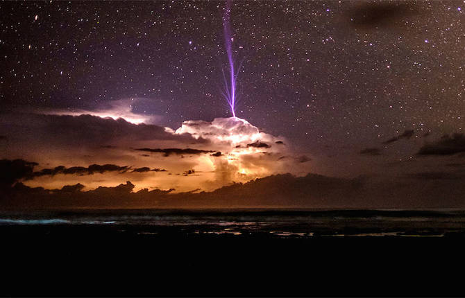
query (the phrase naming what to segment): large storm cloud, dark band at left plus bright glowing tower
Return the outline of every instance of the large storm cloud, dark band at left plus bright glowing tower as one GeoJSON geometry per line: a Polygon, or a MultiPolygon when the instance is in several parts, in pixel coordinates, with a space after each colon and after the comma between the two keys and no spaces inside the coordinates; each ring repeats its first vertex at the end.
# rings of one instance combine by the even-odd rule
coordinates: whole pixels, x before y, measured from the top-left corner
{"type": "Polygon", "coordinates": [[[6,136],[1,157],[38,164],[32,179],[24,181],[29,186],[58,189],[81,183],[88,190],[130,180],[136,190],[213,190],[277,173],[310,171],[310,158],[293,155],[284,137],[237,117],[185,121],[177,130],[89,114],[1,118],[0,134],[6,136]],[[186,169],[195,175],[184,176],[186,169]]]}

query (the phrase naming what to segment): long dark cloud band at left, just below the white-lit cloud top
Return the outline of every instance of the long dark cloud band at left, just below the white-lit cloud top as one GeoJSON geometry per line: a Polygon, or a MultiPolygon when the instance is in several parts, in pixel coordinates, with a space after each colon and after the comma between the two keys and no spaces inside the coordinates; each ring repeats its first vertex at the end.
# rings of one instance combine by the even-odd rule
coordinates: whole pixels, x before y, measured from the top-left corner
{"type": "Polygon", "coordinates": [[[0,114],[0,133],[9,139],[47,146],[115,148],[121,142],[168,140],[205,143],[188,134],[172,134],[158,125],[133,124],[124,119],[98,116],[58,116],[45,114],[0,114]]]}

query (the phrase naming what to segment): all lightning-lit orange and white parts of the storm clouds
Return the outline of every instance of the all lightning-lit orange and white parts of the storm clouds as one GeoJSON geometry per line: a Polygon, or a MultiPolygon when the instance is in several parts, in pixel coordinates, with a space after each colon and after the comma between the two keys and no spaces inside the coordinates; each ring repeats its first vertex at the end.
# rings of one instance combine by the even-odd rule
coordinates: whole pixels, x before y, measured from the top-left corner
{"type": "MultiPolygon", "coordinates": [[[[79,116],[91,114],[101,118],[126,120],[128,124],[147,123],[153,118],[134,114],[127,100],[101,111],[61,111],[51,114],[79,116]],[[149,119],[149,120],[147,120],[149,119]]],[[[72,119],[71,119],[72,120],[72,119]]],[[[69,120],[69,121],[71,121],[69,120]]],[[[76,120],[77,121],[77,120],[76,120]]],[[[124,123],[121,123],[121,125],[124,123]]],[[[150,124],[147,124],[150,125],[150,124]]],[[[158,131],[158,130],[155,130],[158,131]]],[[[117,186],[130,181],[135,184],[135,191],[140,189],[176,189],[174,192],[213,191],[233,182],[248,182],[251,179],[266,177],[278,173],[307,173],[309,163],[301,163],[292,157],[287,140],[275,137],[244,119],[237,117],[217,118],[208,121],[185,121],[177,130],[164,128],[164,138],[150,139],[147,135],[121,136],[124,139],[134,137],[130,143],[117,142],[96,144],[92,148],[78,146],[69,159],[69,150],[53,153],[53,159],[46,159],[35,170],[56,166],[89,166],[90,164],[115,164],[127,166],[124,172],[105,172],[90,175],[42,175],[27,180],[28,186],[42,186],[46,189],[60,189],[65,185],[81,183],[85,190],[98,186],[117,186]],[[194,142],[192,140],[198,140],[194,142]],[[101,146],[113,145],[113,146],[101,146]],[[135,148],[154,148],[151,152],[138,151],[135,148]],[[178,153],[164,154],[164,148],[176,148],[178,153]],[[183,152],[196,149],[198,152],[183,152]],[[161,150],[161,151],[160,151],[161,150]],[[296,166],[298,164],[298,166],[296,166]],[[153,170],[135,171],[136,168],[163,168],[166,172],[153,170]]],[[[56,148],[56,150],[61,150],[56,148]]],[[[52,153],[50,153],[52,154],[52,153]]],[[[47,155],[47,152],[44,152],[47,155]]],[[[37,159],[34,159],[37,160],[37,159]]],[[[37,160],[38,161],[38,160],[37,160]]]]}

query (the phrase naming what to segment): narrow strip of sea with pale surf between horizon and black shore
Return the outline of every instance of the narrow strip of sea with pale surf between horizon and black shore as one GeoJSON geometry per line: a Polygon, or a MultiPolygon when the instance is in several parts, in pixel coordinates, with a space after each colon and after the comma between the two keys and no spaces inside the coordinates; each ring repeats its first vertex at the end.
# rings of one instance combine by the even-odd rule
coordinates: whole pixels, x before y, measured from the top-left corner
{"type": "Polygon", "coordinates": [[[0,226],[115,227],[137,235],[442,237],[465,233],[465,211],[107,210],[0,213],[0,226]]]}

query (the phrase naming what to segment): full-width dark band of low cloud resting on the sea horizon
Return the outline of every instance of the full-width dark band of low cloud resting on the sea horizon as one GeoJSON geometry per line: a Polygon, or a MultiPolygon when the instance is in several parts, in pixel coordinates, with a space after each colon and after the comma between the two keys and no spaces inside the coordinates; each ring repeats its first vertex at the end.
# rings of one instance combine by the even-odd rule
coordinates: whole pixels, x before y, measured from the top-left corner
{"type": "MultiPolygon", "coordinates": [[[[188,173],[189,171],[187,171],[188,173]]],[[[195,173],[191,171],[191,174],[195,173]]],[[[188,175],[188,174],[187,174],[188,175]]],[[[132,182],[83,191],[82,184],[46,190],[21,182],[9,186],[0,198],[2,209],[94,208],[464,208],[463,177],[442,172],[424,172],[381,184],[369,177],[353,179],[309,174],[271,175],[247,183],[223,186],[211,192],[198,189],[172,193],[142,189],[132,182]],[[412,179],[413,178],[413,179],[412,179]],[[69,195],[72,193],[72,195],[69,195]]]]}

